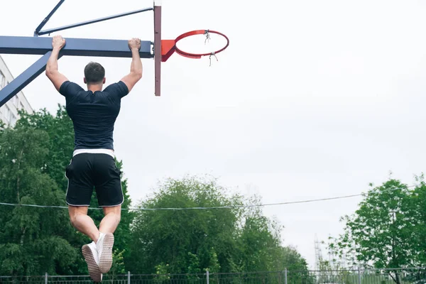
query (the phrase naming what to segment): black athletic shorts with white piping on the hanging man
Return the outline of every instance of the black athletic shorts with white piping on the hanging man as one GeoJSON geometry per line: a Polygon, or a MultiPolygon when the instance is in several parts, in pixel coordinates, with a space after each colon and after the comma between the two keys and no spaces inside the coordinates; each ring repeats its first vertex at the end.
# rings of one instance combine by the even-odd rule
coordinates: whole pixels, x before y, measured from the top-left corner
{"type": "Polygon", "coordinates": [[[68,179],[66,202],[74,206],[89,206],[93,187],[100,207],[123,203],[121,171],[114,158],[105,153],[79,153],[67,165],[68,179]]]}

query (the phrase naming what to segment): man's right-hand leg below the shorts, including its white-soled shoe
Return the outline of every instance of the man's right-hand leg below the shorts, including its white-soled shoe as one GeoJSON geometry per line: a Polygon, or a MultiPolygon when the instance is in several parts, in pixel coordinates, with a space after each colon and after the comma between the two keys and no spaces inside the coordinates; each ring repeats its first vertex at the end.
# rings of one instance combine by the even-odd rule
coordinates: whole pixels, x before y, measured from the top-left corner
{"type": "Polygon", "coordinates": [[[112,266],[112,247],[114,246],[114,231],[119,226],[121,219],[121,205],[103,207],[105,217],[99,225],[99,269],[102,273],[108,273],[112,266]]]}

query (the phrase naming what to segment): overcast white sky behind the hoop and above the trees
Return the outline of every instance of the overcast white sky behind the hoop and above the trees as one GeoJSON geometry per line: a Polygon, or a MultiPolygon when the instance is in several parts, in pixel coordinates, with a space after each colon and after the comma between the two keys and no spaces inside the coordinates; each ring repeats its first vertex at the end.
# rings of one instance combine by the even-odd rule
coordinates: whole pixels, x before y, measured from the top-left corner
{"type": "MultiPolygon", "coordinates": [[[[5,1],[6,2],[6,1],[5,1]]],[[[32,36],[58,0],[1,5],[0,35],[32,36]]],[[[163,39],[211,29],[229,48],[209,58],[173,55],[154,97],[153,60],[122,101],[117,158],[133,201],[158,180],[209,174],[264,203],[358,194],[368,183],[408,184],[424,170],[426,26],[422,1],[163,0],[163,39]]],[[[152,1],[73,0],[45,28],[152,6],[152,1]]],[[[153,14],[142,13],[60,33],[65,38],[153,40],[153,14]]],[[[202,37],[182,47],[207,47],[202,37]]],[[[211,51],[211,50],[208,50],[211,51]]],[[[38,57],[2,55],[16,77],[38,57]]],[[[107,82],[129,72],[130,59],[62,58],[60,71],[83,84],[83,68],[101,62],[107,82]]],[[[23,89],[34,109],[64,104],[44,75],[23,89]]],[[[359,198],[266,207],[285,226],[283,244],[310,266],[314,241],[342,231],[339,217],[359,198]]]]}

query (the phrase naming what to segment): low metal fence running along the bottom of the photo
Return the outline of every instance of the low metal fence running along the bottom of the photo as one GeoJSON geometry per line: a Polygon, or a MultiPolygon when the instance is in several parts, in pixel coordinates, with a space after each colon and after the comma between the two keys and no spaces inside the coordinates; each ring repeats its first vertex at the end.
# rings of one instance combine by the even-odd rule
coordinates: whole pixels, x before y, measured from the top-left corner
{"type": "MultiPolygon", "coordinates": [[[[0,276],[0,283],[93,283],[88,275],[0,276]]],[[[104,275],[116,284],[426,284],[426,268],[104,275]]]]}

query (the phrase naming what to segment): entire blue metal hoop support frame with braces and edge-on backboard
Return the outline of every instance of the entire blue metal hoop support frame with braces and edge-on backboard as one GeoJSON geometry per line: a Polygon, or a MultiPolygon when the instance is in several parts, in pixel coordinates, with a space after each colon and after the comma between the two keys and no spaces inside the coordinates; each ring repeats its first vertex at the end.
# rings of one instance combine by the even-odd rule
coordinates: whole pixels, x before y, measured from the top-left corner
{"type": "MultiPolygon", "coordinates": [[[[40,59],[28,67],[21,75],[18,75],[12,82],[0,90],[0,107],[6,104],[9,99],[16,95],[23,87],[26,87],[38,75],[45,71],[48,59],[52,52],[52,39],[41,38],[39,35],[50,34],[56,31],[63,31],[68,28],[89,25],[90,23],[98,23],[113,18],[129,16],[135,13],[145,11],[154,11],[154,42],[141,41],[141,49],[139,54],[141,58],[155,58],[155,96],[160,96],[160,62],[161,62],[161,6],[153,6],[153,8],[139,9],[127,13],[120,13],[104,18],[97,18],[91,21],[84,21],[59,28],[51,28],[42,31],[43,26],[48,23],[49,19],[55,11],[62,5],[65,0],[60,0],[55,8],[50,11],[43,21],[35,28],[33,37],[19,36],[0,36],[0,54],[26,54],[26,55],[43,55],[40,59]],[[158,55],[158,56],[155,56],[158,55]]],[[[87,39],[87,38],[66,38],[67,43],[60,51],[59,58],[63,55],[72,56],[99,56],[114,58],[131,58],[131,50],[127,40],[105,40],[105,39],[87,39]]]]}

